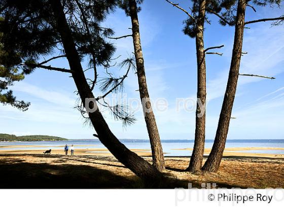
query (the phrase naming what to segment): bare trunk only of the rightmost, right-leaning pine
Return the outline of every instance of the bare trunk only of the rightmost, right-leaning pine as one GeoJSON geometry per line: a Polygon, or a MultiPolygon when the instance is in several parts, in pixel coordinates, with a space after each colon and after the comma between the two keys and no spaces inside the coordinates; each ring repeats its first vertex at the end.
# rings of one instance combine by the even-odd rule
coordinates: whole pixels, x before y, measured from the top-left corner
{"type": "Polygon", "coordinates": [[[212,150],[206,160],[203,170],[216,172],[220,166],[222,155],[225,149],[226,138],[229,130],[230,118],[237,89],[239,67],[243,42],[245,0],[239,0],[235,25],[235,37],[232,53],[232,60],[229,72],[227,88],[219,117],[218,128],[212,150]]]}

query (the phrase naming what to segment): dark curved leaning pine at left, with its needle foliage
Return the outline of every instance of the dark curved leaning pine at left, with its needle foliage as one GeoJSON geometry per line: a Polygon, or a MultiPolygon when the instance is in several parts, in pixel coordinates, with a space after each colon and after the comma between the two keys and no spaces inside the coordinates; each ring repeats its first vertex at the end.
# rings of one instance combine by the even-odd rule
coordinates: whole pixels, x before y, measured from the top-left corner
{"type": "Polygon", "coordinates": [[[114,0],[1,0],[1,44],[8,57],[8,61],[2,61],[1,66],[16,69],[26,67],[30,72],[44,68],[68,74],[74,80],[81,99],[78,109],[94,127],[94,135],[137,176],[153,180],[161,176],[160,172],[118,140],[99,110],[102,104],[113,112],[115,118],[122,119],[124,123],[134,121],[127,111],[117,105],[110,106],[104,100],[105,96],[121,88],[133,59],[129,58],[121,64],[127,67],[123,77],[115,78],[109,74],[108,78],[99,81],[97,74],[98,66],[104,66],[107,72],[112,66],[115,48],[105,41],[105,38],[112,35],[113,31],[100,26],[100,23],[115,8],[116,3],[114,0]],[[55,53],[59,54],[53,56],[55,53]],[[16,62],[12,61],[15,56],[19,56],[16,62]],[[44,60],[39,61],[40,59],[44,60]],[[70,68],[49,65],[55,59],[67,60],[70,68]],[[87,68],[82,67],[84,60],[89,62],[87,68]],[[93,71],[91,79],[86,77],[89,70],[93,71]],[[99,84],[104,94],[95,97],[93,90],[99,84]],[[86,99],[92,100],[87,103],[88,106],[86,99]],[[86,112],[85,109],[94,111],[86,112]]]}

